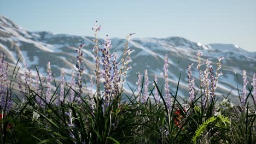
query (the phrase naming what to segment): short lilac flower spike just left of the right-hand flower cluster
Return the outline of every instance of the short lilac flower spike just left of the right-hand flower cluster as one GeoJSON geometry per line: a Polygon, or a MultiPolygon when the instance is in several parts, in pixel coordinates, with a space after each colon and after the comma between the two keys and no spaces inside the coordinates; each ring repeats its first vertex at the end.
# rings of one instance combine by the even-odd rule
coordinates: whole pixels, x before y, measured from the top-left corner
{"type": "Polygon", "coordinates": [[[195,79],[192,77],[191,66],[193,63],[188,65],[188,83],[189,83],[189,102],[190,104],[195,101],[195,79]]]}

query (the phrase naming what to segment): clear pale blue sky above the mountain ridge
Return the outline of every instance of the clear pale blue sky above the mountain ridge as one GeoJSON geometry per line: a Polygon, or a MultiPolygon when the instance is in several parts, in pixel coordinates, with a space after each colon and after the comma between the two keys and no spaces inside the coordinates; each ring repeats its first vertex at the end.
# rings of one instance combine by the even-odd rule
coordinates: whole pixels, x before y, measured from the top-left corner
{"type": "Polygon", "coordinates": [[[256,1],[57,1],[1,0],[0,14],[29,31],[100,37],[184,37],[203,44],[228,43],[256,51],[256,1]]]}

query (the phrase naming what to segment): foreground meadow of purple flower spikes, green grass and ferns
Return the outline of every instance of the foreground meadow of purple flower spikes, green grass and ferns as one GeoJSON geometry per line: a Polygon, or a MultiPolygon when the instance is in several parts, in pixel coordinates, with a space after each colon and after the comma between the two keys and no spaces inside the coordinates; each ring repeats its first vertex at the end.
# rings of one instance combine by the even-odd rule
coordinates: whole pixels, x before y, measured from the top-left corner
{"type": "MultiPolygon", "coordinates": [[[[201,62],[202,52],[197,52],[199,87],[188,65],[188,99],[178,100],[170,93],[168,85],[168,56],[162,73],[164,88],[149,89],[148,73],[137,73],[136,89],[130,95],[123,93],[127,70],[131,67],[129,39],[127,36],[121,61],[111,53],[107,38],[98,44],[95,31],[95,75],[91,89],[83,92],[83,52],[77,52],[77,72],[66,82],[62,69],[61,83],[56,83],[48,63],[47,75],[31,76],[24,69],[22,81],[16,81],[20,68],[16,67],[8,79],[8,65],[4,55],[0,58],[0,141],[1,143],[255,143],[256,142],[256,76],[252,86],[247,86],[243,71],[243,91],[240,104],[233,105],[229,95],[216,97],[221,61],[216,70],[210,61],[201,62]],[[205,69],[202,69],[202,66],[205,69]],[[103,82],[101,80],[103,79],[103,82]],[[15,88],[13,83],[19,83],[15,88]],[[55,83],[55,87],[52,84],[55,83]],[[96,91],[93,91],[96,89],[96,91]],[[19,91],[18,95],[14,92],[19,91]],[[249,93],[248,93],[249,92],[249,93]],[[125,99],[125,100],[124,100],[125,99]],[[252,101],[252,103],[249,103],[252,101]]],[[[36,69],[37,70],[37,69],[36,69]]],[[[239,89],[238,94],[240,94],[239,89]]]]}

